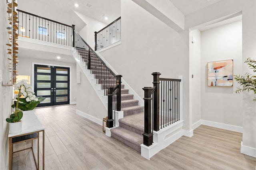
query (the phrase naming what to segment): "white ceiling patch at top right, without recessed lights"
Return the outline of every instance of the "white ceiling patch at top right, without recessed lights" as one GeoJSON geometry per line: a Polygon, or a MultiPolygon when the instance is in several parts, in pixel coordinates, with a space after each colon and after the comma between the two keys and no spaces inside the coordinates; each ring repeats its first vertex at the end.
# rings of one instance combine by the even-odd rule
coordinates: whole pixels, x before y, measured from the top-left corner
{"type": "Polygon", "coordinates": [[[170,0],[184,15],[191,14],[197,10],[215,4],[220,0],[170,0]]]}

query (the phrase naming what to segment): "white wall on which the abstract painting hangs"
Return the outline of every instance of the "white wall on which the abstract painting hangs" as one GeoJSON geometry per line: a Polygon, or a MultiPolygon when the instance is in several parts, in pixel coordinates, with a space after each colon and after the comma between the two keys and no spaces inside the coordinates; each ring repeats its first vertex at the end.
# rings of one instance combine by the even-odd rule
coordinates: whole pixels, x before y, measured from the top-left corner
{"type": "Polygon", "coordinates": [[[242,94],[233,87],[207,85],[207,62],[233,59],[234,75],[242,73],[242,21],[201,32],[202,120],[242,127],[242,94]]]}

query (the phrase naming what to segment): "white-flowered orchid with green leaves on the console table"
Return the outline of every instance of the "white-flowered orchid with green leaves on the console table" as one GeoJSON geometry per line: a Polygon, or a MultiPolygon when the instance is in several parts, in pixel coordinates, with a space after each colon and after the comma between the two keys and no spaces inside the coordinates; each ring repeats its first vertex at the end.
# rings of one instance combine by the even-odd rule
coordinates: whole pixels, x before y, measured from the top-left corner
{"type": "Polygon", "coordinates": [[[36,97],[32,87],[22,80],[14,86],[14,94],[18,94],[17,98],[14,99],[14,113],[7,118],[6,121],[9,123],[19,122],[23,117],[23,111],[33,110],[40,102],[44,101],[45,97],[36,97]],[[16,93],[18,91],[18,93],[16,93]],[[20,110],[19,110],[20,109],[20,110]]]}

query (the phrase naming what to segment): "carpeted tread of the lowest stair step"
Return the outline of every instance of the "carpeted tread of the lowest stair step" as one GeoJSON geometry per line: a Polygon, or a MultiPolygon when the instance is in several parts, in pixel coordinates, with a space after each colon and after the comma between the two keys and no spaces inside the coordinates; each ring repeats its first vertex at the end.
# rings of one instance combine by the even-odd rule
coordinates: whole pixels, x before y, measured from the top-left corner
{"type": "Polygon", "coordinates": [[[127,140],[128,142],[136,144],[137,146],[140,146],[143,143],[142,134],[137,134],[122,127],[112,128],[111,133],[114,133],[121,138],[127,140]]]}

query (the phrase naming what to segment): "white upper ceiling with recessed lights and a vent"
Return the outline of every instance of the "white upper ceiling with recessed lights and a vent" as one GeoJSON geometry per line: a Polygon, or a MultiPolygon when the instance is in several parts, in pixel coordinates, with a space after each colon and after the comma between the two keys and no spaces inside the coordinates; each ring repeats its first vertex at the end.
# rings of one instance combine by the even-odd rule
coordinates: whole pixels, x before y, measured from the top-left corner
{"type": "Polygon", "coordinates": [[[96,20],[110,24],[121,16],[121,0],[37,0],[44,4],[48,4],[58,10],[71,13],[72,11],[79,12],[86,16],[90,16],[96,20]],[[75,7],[77,3],[79,6],[75,7]],[[86,7],[86,4],[92,4],[91,8],[86,7]],[[108,20],[105,20],[102,15],[106,15],[108,20]]]}

